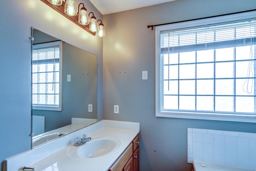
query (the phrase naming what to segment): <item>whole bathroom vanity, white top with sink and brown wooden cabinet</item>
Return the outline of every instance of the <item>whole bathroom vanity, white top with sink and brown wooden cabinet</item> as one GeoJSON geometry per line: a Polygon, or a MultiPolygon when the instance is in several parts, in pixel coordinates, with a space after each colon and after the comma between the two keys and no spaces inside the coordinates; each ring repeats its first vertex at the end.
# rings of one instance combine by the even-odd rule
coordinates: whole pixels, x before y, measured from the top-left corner
{"type": "Polygon", "coordinates": [[[6,159],[4,171],[138,171],[139,131],[140,123],[102,120],[6,159]],[[74,146],[83,134],[91,140],[74,146]]]}

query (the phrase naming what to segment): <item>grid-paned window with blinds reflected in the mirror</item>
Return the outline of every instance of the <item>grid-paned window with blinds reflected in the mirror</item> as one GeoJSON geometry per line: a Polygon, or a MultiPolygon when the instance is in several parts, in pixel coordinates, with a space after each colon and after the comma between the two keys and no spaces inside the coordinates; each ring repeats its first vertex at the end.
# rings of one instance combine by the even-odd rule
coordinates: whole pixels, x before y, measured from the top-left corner
{"type": "Polygon", "coordinates": [[[62,42],[33,45],[33,109],[62,110],[62,42]]]}

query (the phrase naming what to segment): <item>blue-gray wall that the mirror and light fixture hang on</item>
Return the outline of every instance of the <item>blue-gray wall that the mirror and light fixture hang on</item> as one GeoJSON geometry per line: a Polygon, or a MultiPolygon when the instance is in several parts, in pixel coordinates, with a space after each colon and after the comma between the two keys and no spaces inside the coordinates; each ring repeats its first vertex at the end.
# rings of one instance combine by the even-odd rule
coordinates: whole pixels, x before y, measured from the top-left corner
{"type": "MultiPolygon", "coordinates": [[[[89,0],[86,9],[102,14],[89,0]]],[[[98,118],[103,104],[102,38],[92,36],[40,0],[8,0],[0,6],[0,163],[31,147],[30,27],[86,50],[98,57],[98,118]],[[68,32],[68,30],[71,30],[68,32]],[[68,33],[68,34],[67,34],[68,33]]]]}

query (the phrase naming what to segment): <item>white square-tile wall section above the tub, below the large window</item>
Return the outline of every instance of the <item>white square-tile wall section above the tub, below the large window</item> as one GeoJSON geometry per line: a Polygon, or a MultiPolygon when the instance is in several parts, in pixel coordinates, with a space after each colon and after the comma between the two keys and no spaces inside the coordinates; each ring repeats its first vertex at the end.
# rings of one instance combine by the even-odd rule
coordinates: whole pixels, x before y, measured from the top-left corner
{"type": "Polygon", "coordinates": [[[256,133],[188,128],[188,163],[193,160],[256,169],[256,133]]]}

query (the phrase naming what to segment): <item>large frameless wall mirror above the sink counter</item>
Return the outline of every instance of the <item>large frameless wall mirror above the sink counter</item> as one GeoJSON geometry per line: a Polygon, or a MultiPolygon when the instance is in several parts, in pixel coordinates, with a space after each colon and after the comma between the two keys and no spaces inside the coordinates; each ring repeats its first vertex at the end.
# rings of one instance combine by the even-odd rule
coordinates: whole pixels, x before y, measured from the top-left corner
{"type": "Polygon", "coordinates": [[[97,56],[31,30],[34,148],[97,121],[97,56]]]}

